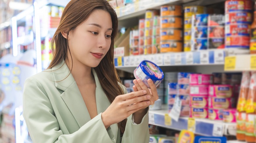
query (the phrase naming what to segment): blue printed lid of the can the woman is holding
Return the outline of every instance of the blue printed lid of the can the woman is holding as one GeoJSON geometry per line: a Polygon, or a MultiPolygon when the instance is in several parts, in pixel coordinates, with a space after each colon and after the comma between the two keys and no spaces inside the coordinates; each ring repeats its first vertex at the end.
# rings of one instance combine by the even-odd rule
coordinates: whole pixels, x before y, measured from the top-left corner
{"type": "Polygon", "coordinates": [[[152,80],[162,80],[163,71],[153,62],[144,60],[139,64],[141,70],[152,80]]]}

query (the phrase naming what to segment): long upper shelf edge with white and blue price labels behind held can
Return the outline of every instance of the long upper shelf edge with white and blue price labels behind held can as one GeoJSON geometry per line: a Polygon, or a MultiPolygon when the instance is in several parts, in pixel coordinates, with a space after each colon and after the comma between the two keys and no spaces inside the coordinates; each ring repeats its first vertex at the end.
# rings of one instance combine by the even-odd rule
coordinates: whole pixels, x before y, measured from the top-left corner
{"type": "Polygon", "coordinates": [[[248,54],[244,49],[215,49],[195,52],[160,53],[152,55],[121,56],[115,58],[118,70],[133,72],[142,60],[156,63],[163,71],[223,72],[224,58],[248,54]]]}

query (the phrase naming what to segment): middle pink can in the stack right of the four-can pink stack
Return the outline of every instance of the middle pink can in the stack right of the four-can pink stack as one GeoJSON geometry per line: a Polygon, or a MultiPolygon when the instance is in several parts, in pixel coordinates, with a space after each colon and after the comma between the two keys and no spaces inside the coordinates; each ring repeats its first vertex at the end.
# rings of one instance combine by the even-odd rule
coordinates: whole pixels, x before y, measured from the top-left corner
{"type": "Polygon", "coordinates": [[[214,109],[228,109],[234,107],[233,98],[209,97],[208,102],[209,108],[214,109]]]}

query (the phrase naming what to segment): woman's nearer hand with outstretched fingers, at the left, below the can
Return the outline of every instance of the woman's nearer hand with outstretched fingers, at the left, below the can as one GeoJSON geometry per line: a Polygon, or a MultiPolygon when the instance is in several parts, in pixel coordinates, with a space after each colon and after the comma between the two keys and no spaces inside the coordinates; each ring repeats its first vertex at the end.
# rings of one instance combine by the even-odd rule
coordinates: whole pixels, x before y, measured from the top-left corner
{"type": "Polygon", "coordinates": [[[101,114],[103,124],[106,128],[118,123],[134,112],[150,105],[150,95],[145,95],[146,90],[135,91],[118,95],[110,106],[101,114]]]}

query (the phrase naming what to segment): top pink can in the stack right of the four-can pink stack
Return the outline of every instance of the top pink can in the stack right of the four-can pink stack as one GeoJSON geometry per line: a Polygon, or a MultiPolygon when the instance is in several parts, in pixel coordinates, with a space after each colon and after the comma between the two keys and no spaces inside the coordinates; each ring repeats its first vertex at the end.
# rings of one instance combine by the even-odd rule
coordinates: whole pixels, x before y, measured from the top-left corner
{"type": "Polygon", "coordinates": [[[210,85],[209,96],[229,98],[233,97],[233,86],[231,85],[210,85]]]}

